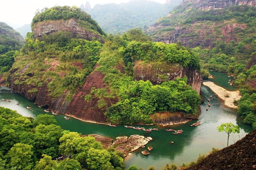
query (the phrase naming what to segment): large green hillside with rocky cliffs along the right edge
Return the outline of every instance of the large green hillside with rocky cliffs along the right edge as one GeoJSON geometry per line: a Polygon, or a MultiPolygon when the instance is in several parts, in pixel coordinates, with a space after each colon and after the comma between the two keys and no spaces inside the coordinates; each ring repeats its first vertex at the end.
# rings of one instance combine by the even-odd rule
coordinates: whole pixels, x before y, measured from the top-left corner
{"type": "Polygon", "coordinates": [[[213,70],[233,76],[232,83],[243,95],[234,101],[238,114],[256,128],[256,66],[246,68],[256,51],[256,1],[184,0],[148,33],[153,41],[192,47],[200,56],[202,72],[213,70]]]}

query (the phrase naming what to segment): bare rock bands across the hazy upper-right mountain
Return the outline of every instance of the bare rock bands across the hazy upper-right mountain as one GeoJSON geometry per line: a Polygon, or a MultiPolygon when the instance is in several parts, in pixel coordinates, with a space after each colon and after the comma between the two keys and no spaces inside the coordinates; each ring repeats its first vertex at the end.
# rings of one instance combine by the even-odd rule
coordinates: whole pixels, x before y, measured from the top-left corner
{"type": "MultiPolygon", "coordinates": [[[[231,5],[249,5],[256,6],[255,0],[183,0],[181,6],[189,10],[190,8],[197,8],[201,10],[209,9],[221,9],[229,7],[231,5]],[[190,3],[190,5],[188,5],[190,3]],[[192,4],[192,5],[191,5],[192,4]]],[[[179,14],[169,13],[167,17],[173,17],[179,14]]],[[[213,25],[207,25],[203,22],[191,22],[189,27],[182,27],[178,24],[174,27],[175,30],[166,31],[163,33],[157,33],[158,30],[170,29],[171,24],[161,24],[155,23],[148,30],[148,34],[154,34],[152,36],[153,41],[163,42],[165,44],[181,42],[185,47],[195,48],[198,46],[211,48],[214,47],[213,42],[216,39],[222,39],[229,43],[230,41],[237,42],[237,39],[234,34],[234,30],[243,30],[245,29],[245,24],[230,24],[227,23],[225,26],[222,26],[223,23],[215,23],[213,25]],[[213,36],[215,35],[216,26],[222,26],[222,34],[224,38],[213,36]],[[155,37],[155,38],[154,38],[155,37]]],[[[219,29],[219,28],[218,28],[219,29]]]]}

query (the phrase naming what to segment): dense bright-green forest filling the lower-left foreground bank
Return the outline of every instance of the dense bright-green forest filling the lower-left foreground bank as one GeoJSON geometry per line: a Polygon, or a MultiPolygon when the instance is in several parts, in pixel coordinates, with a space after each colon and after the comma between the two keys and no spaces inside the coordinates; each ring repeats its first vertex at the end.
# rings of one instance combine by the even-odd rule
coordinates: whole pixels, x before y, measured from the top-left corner
{"type": "Polygon", "coordinates": [[[61,129],[54,116],[40,114],[34,119],[0,107],[0,168],[80,170],[83,165],[88,170],[125,169],[122,153],[102,149],[94,137],[80,135],[61,129]]]}

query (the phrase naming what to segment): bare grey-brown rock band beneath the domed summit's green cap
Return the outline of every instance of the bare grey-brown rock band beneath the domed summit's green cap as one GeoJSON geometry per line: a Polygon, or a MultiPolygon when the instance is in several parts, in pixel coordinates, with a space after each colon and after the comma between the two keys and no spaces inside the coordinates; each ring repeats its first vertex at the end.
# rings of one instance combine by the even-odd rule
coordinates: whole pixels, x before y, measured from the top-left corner
{"type": "Polygon", "coordinates": [[[32,27],[34,38],[41,37],[44,34],[51,34],[59,31],[67,31],[73,33],[74,36],[81,36],[82,39],[91,41],[93,38],[104,43],[104,39],[101,35],[93,33],[89,30],[85,30],[79,26],[78,20],[71,18],[69,20],[56,20],[56,21],[43,21],[35,23],[32,27]]]}

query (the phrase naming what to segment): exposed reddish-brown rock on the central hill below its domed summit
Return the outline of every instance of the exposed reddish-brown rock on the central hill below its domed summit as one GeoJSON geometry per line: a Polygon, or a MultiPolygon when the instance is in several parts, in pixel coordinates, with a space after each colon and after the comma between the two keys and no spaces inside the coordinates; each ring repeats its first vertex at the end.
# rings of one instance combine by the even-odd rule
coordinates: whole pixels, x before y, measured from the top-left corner
{"type": "MultiPolygon", "coordinates": [[[[200,72],[194,69],[181,67],[178,64],[174,66],[152,66],[150,63],[148,65],[142,65],[141,63],[142,62],[138,61],[134,65],[134,80],[149,80],[153,84],[159,84],[163,81],[175,80],[177,77],[184,77],[184,75],[186,75],[188,84],[190,84],[193,89],[197,90],[198,94],[201,94],[202,78],[200,72]]],[[[58,66],[58,61],[54,60],[54,62],[48,64],[50,65],[49,70],[53,71],[56,69],[56,66],[58,66]]],[[[77,65],[79,65],[79,63],[77,65]]],[[[26,68],[27,66],[24,67],[19,74],[22,75],[26,68]]],[[[25,96],[27,99],[34,101],[34,103],[39,107],[46,107],[49,110],[55,111],[59,114],[66,114],[86,122],[105,123],[105,109],[110,107],[111,104],[115,104],[118,101],[118,98],[104,98],[105,102],[107,103],[106,106],[101,109],[98,107],[99,98],[97,98],[95,94],[91,94],[91,89],[107,89],[108,84],[103,80],[105,75],[100,71],[95,71],[96,68],[98,68],[98,65],[95,65],[94,71],[88,75],[84,84],[77,89],[70,102],[64,100],[68,92],[56,99],[50,97],[47,83],[43,83],[43,86],[38,88],[37,93],[31,93],[29,90],[37,88],[37,86],[34,86],[33,84],[30,84],[29,86],[24,84],[15,84],[16,80],[11,77],[11,91],[19,93],[20,95],[25,96]],[[89,100],[85,100],[85,96],[87,95],[91,95],[89,100]]],[[[123,66],[118,66],[118,69],[124,74],[123,66]]],[[[16,70],[12,70],[12,73],[15,71],[16,70]]],[[[31,74],[29,76],[34,75],[31,74]]],[[[172,116],[169,116],[166,119],[158,117],[155,120],[156,123],[159,124],[179,122],[177,117],[172,116]]],[[[182,123],[188,121],[188,119],[187,117],[182,116],[182,120],[180,121],[180,123],[182,123]]]]}

